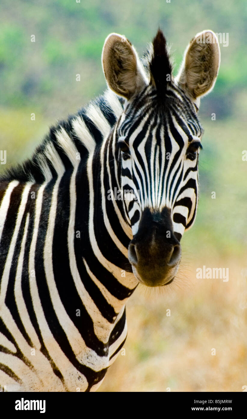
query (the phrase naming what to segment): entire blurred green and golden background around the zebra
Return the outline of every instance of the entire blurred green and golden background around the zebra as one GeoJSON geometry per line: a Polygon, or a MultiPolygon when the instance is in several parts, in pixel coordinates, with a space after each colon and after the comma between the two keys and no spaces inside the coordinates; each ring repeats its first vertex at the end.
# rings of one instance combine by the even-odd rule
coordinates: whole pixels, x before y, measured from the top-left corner
{"type": "Polygon", "coordinates": [[[7,163],[0,165],[0,172],[30,156],[56,119],[73,114],[104,91],[101,52],[110,32],[127,36],[142,55],[159,26],[171,46],[175,73],[197,32],[229,34],[229,45],[220,45],[222,60],[214,91],[201,100],[199,117],[205,134],[199,159],[199,208],[194,226],[181,241],[178,278],[165,290],[139,286],[132,295],[127,303],[125,354],[110,367],[98,391],[243,391],[247,385],[247,161],[242,160],[242,151],[247,150],[247,3],[2,0],[0,149],[7,150],[7,163]],[[196,269],[204,265],[229,268],[229,281],[196,279],[196,269]]]}

